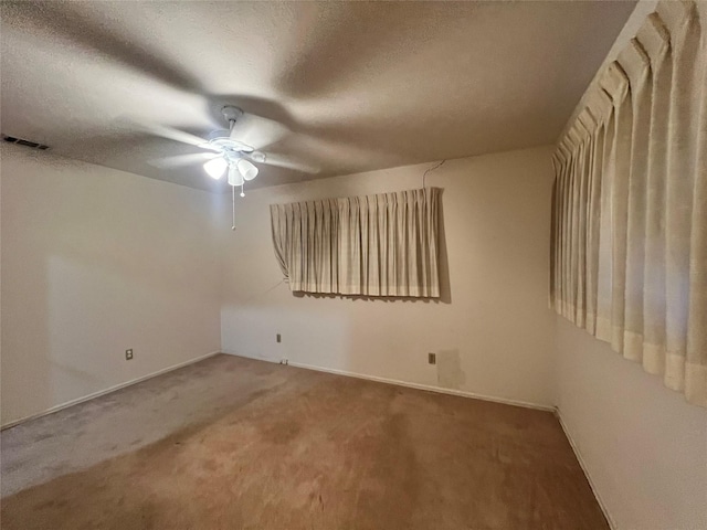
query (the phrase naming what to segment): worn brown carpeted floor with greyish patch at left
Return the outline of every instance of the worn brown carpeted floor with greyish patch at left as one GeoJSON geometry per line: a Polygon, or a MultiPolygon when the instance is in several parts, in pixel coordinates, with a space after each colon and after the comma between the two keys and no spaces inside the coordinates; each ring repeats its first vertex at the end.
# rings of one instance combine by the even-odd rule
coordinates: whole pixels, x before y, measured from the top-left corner
{"type": "Polygon", "coordinates": [[[548,412],[217,356],[2,432],[10,529],[606,529],[548,412]]]}

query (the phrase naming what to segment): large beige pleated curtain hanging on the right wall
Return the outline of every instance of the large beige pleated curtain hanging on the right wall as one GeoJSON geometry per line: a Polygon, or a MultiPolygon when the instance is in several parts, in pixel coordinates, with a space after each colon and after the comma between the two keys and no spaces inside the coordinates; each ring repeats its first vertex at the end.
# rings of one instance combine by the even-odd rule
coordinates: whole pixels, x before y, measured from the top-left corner
{"type": "Polygon", "coordinates": [[[707,2],[659,2],[555,155],[555,309],[707,406],[707,2]]]}

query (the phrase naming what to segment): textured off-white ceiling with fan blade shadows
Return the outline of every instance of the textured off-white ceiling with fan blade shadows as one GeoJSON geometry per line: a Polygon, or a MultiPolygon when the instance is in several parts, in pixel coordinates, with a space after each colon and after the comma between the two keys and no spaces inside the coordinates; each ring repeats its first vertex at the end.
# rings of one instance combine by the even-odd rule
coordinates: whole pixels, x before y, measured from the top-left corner
{"type": "Polygon", "coordinates": [[[199,149],[146,129],[282,123],[257,147],[319,172],[255,186],[550,144],[634,3],[2,2],[2,132],[213,190],[155,167],[199,149]]]}

